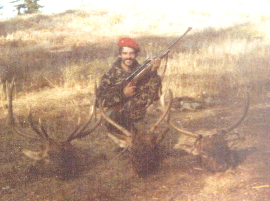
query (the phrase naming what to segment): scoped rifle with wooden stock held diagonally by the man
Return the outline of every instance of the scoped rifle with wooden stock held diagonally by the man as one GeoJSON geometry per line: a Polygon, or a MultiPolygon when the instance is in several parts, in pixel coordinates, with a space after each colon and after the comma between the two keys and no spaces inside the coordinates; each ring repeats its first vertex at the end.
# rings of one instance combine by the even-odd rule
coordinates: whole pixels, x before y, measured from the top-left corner
{"type": "Polygon", "coordinates": [[[140,65],[140,67],[137,70],[135,70],[130,76],[128,76],[125,79],[125,83],[137,82],[138,80],[140,80],[144,75],[146,75],[151,70],[152,68],[151,61],[157,58],[160,59],[164,58],[170,52],[170,48],[173,47],[173,45],[176,44],[182,37],[184,37],[184,35],[186,35],[191,29],[192,27],[188,27],[188,30],[186,30],[186,32],[180,38],[174,41],[168,48],[165,48],[165,50],[163,50],[159,56],[155,57],[154,59],[151,58],[146,59],[145,62],[142,65],[140,65]]]}

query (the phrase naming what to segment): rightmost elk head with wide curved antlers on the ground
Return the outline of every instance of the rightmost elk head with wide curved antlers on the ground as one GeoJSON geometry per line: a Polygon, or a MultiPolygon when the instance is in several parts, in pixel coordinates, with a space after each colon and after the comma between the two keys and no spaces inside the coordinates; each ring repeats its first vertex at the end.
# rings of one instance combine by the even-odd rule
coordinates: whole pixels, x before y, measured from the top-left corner
{"type": "MultiPolygon", "coordinates": [[[[237,83],[239,86],[239,84],[237,83]]],[[[226,135],[230,135],[230,132],[235,129],[245,118],[248,108],[249,108],[249,94],[243,90],[241,86],[240,89],[243,91],[245,96],[245,109],[242,117],[237,120],[232,126],[227,129],[221,129],[220,132],[213,134],[212,136],[202,136],[201,134],[196,135],[192,132],[188,132],[184,129],[178,128],[173,122],[169,119],[168,122],[173,126],[174,129],[180,133],[195,138],[194,149],[197,150],[198,155],[201,160],[201,166],[212,172],[225,171],[229,167],[235,167],[238,162],[235,151],[232,150],[232,147],[228,145],[229,141],[236,141],[241,139],[238,135],[235,139],[226,139],[226,135]]],[[[243,139],[243,138],[242,138],[243,139]]]]}

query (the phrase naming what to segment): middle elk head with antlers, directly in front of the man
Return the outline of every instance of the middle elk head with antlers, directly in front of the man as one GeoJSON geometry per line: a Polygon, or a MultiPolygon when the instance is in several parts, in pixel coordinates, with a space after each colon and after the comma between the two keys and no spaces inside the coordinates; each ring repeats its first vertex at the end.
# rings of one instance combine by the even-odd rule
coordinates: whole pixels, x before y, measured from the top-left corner
{"type": "Polygon", "coordinates": [[[122,131],[123,135],[117,133],[108,133],[108,136],[120,147],[127,149],[131,155],[131,161],[133,167],[140,177],[145,177],[149,173],[152,173],[159,166],[161,160],[161,148],[160,142],[164,138],[168,128],[163,132],[154,133],[156,127],[165,118],[172,104],[172,93],[169,90],[169,101],[167,105],[164,102],[164,95],[160,97],[160,101],[163,101],[163,114],[155,124],[153,124],[148,132],[139,132],[137,129],[130,132],[121,125],[114,122],[109,118],[103,109],[103,104],[100,105],[100,112],[103,118],[114,125],[117,129],[122,131]]]}

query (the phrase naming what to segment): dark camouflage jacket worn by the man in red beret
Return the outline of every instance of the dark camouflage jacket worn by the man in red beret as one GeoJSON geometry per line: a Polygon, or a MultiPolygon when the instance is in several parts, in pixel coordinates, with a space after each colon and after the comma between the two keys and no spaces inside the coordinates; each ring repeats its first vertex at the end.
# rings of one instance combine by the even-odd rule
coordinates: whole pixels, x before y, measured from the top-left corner
{"type": "MultiPolygon", "coordinates": [[[[135,61],[131,66],[134,72],[140,64],[135,61]]],[[[131,72],[131,73],[132,73],[131,72]]],[[[137,83],[136,94],[126,97],[123,93],[125,85],[122,83],[131,74],[121,67],[121,58],[101,77],[97,90],[98,99],[105,99],[106,107],[121,107],[133,120],[144,117],[146,108],[159,99],[158,91],[161,87],[161,78],[157,72],[150,72],[137,83]]]]}

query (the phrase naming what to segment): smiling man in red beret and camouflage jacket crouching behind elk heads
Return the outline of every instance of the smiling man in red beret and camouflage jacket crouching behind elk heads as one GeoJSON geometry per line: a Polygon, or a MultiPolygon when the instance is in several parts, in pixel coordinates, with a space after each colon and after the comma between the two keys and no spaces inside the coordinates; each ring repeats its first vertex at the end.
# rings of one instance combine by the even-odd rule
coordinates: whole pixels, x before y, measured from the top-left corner
{"type": "MultiPolygon", "coordinates": [[[[100,80],[97,90],[99,100],[104,100],[104,106],[108,107],[107,115],[122,125],[127,130],[134,128],[134,122],[140,121],[146,108],[158,100],[158,91],[161,87],[161,79],[157,74],[160,59],[152,61],[151,71],[137,83],[127,83],[124,80],[134,72],[140,64],[136,57],[140,52],[140,46],[131,38],[121,38],[118,42],[119,58],[108,69],[100,80]]],[[[109,132],[120,131],[106,123],[109,132]]]]}

